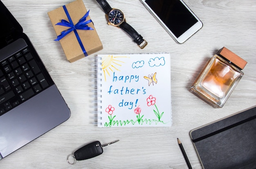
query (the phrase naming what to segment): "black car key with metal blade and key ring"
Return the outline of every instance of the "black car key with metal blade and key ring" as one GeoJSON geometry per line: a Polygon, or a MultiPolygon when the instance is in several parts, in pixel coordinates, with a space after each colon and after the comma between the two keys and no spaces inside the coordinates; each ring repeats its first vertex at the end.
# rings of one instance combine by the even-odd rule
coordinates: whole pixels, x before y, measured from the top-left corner
{"type": "Polygon", "coordinates": [[[99,142],[99,141],[91,142],[88,145],[85,145],[85,146],[81,147],[80,149],[76,150],[74,152],[74,154],[68,155],[67,156],[67,163],[69,163],[70,165],[74,165],[76,163],[76,160],[87,160],[89,158],[94,158],[96,156],[99,156],[103,153],[102,147],[111,145],[115,142],[119,142],[119,140],[115,140],[115,141],[110,142],[110,143],[105,144],[105,145],[101,145],[101,142],[99,142]],[[73,156],[73,158],[74,158],[73,163],[71,163],[69,161],[70,156],[73,156]]]}

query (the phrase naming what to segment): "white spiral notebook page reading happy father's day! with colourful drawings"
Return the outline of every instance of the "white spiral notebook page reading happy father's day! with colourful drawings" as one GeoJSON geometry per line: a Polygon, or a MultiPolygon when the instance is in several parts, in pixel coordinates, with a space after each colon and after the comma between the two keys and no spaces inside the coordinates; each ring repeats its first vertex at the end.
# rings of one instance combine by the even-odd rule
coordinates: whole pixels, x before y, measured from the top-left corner
{"type": "Polygon", "coordinates": [[[169,127],[169,53],[98,55],[95,105],[98,127],[169,127]]]}

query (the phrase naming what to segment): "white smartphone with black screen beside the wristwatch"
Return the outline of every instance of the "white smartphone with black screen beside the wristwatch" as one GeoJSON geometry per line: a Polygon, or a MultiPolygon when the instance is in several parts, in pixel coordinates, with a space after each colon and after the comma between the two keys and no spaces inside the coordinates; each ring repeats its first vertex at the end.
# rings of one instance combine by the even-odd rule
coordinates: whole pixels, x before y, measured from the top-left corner
{"type": "Polygon", "coordinates": [[[203,24],[182,0],[141,0],[177,43],[184,43],[203,24]]]}

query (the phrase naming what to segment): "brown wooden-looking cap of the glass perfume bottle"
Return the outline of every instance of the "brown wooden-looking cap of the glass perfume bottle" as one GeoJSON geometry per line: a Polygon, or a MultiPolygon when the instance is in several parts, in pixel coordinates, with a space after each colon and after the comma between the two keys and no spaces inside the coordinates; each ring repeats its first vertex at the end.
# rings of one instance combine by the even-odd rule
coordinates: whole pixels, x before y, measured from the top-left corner
{"type": "Polygon", "coordinates": [[[244,69],[245,65],[247,64],[245,60],[243,60],[242,58],[240,58],[235,53],[231,52],[229,49],[225,47],[220,49],[217,55],[226,58],[231,62],[231,64],[234,64],[234,66],[238,67],[238,69],[240,70],[244,69]]]}

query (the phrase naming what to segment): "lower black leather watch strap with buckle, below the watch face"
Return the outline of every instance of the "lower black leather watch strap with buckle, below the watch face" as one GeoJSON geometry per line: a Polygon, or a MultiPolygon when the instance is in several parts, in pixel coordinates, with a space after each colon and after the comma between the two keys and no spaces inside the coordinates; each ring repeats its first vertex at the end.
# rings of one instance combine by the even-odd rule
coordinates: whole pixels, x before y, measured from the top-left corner
{"type": "MultiPolygon", "coordinates": [[[[137,31],[135,31],[135,29],[133,29],[133,27],[130,26],[130,24],[128,24],[127,22],[123,22],[122,24],[119,25],[119,27],[122,28],[122,29],[124,29],[124,31],[126,31],[126,33],[128,33],[128,34],[132,37],[133,41],[134,41],[135,43],[137,43],[138,46],[140,46],[140,44],[145,41],[145,40],[143,39],[143,37],[142,37],[137,31]]],[[[146,41],[145,41],[144,43],[147,44],[146,41]]],[[[145,45],[145,44],[144,44],[144,45],[145,45]]],[[[145,45],[145,46],[146,46],[146,45],[145,45]]],[[[145,47],[145,46],[144,46],[144,47],[145,47]]],[[[143,49],[144,47],[142,47],[142,49],[143,49]]]]}

